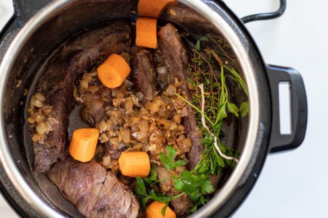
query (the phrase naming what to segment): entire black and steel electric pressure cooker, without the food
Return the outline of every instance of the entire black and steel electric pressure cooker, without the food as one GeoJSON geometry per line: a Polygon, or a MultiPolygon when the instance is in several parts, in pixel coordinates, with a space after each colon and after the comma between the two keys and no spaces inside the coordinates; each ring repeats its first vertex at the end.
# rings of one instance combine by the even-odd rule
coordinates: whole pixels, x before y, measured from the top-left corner
{"type": "MultiPolygon", "coordinates": [[[[265,158],[298,147],[305,136],[307,104],[300,74],[264,63],[243,21],[275,18],[277,12],[239,19],[223,1],[179,0],[203,19],[188,23],[188,14],[170,20],[190,33],[214,31],[234,51],[248,86],[250,113],[238,121],[234,144],[240,160],[214,197],[190,217],[227,217],[240,206],[254,186],[265,158]],[[281,134],[279,83],[290,84],[291,134],[281,134]]],[[[26,91],[31,91],[39,67],[72,35],[100,23],[136,20],[134,0],[14,0],[15,14],[0,34],[0,189],[8,203],[24,217],[80,217],[50,183],[40,186],[28,164],[24,137],[26,91]],[[47,189],[47,191],[46,191],[47,189]],[[50,190],[50,191],[49,191],[50,190]]],[[[165,12],[164,12],[165,13],[165,12]]],[[[281,169],[283,170],[283,169],[281,169]]],[[[43,178],[46,180],[46,178],[43,178]]]]}

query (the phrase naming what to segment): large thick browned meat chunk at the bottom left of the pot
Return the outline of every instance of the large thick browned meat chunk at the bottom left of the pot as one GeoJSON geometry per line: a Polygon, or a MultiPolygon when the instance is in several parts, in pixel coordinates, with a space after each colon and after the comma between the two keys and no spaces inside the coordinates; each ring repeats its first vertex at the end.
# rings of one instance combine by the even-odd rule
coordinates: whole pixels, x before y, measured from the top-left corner
{"type": "Polygon", "coordinates": [[[48,172],[59,192],[86,217],[137,217],[139,202],[130,188],[95,161],[68,157],[48,172]]]}

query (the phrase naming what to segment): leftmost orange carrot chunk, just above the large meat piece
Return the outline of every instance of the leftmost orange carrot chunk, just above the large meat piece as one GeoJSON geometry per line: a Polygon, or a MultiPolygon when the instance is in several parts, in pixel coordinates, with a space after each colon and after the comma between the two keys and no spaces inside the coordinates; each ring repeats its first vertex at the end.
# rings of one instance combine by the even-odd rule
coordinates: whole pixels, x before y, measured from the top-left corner
{"type": "Polygon", "coordinates": [[[96,128],[80,128],[73,132],[68,152],[78,161],[88,162],[94,157],[99,131],[96,128]]]}

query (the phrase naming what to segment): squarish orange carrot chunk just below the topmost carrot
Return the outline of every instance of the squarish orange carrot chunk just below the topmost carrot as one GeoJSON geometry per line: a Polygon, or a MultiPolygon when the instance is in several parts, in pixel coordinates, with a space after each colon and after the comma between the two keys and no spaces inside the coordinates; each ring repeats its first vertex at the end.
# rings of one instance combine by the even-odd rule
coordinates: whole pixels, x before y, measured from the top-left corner
{"type": "Polygon", "coordinates": [[[136,24],[137,46],[156,49],[157,47],[157,19],[139,17],[136,24]]]}

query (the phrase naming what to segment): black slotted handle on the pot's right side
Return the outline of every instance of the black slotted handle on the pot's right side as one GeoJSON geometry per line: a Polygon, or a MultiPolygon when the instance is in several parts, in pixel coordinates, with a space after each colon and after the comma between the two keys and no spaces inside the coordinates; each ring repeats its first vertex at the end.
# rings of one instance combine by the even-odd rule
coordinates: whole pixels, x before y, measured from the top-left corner
{"type": "Polygon", "coordinates": [[[301,75],[292,68],[267,66],[272,99],[272,127],[269,152],[289,150],[298,147],[304,140],[308,121],[308,105],[301,75]],[[291,134],[280,134],[279,82],[290,83],[291,93],[291,134]]]}

